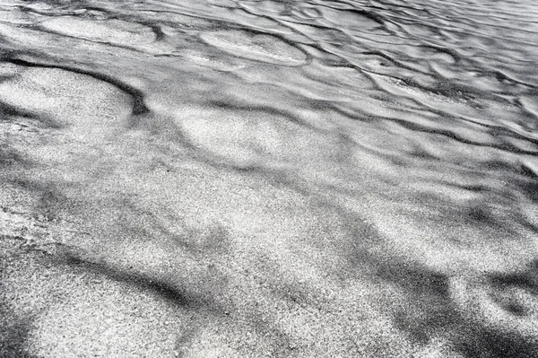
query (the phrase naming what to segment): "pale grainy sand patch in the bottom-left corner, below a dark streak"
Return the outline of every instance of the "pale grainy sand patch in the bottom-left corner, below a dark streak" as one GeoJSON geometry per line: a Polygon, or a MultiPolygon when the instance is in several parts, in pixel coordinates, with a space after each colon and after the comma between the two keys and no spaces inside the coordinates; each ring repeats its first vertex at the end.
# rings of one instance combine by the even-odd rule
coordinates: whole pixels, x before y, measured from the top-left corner
{"type": "Polygon", "coordinates": [[[33,318],[25,338],[29,354],[175,356],[176,340],[189,322],[187,311],[98,273],[53,266],[34,255],[17,260],[3,272],[0,297],[12,314],[33,318]]]}

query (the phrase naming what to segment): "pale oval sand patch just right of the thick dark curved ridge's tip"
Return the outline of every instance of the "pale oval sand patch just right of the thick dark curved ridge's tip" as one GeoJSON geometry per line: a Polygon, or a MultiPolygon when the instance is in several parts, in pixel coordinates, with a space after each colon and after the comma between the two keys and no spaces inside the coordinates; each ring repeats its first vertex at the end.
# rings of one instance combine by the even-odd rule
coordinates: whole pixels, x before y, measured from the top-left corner
{"type": "Polygon", "coordinates": [[[317,161],[335,162],[345,150],[338,135],[324,135],[263,111],[183,109],[175,117],[196,145],[237,165],[308,166],[317,161]]]}

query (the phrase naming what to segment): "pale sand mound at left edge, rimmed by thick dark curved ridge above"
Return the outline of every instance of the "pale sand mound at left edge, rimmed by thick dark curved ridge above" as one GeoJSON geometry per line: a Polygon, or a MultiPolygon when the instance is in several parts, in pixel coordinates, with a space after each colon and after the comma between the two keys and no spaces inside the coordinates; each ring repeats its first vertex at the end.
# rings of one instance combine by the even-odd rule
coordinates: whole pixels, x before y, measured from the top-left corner
{"type": "Polygon", "coordinates": [[[46,67],[4,69],[17,75],[0,83],[0,100],[59,126],[102,133],[121,126],[132,109],[125,92],[89,75],[46,67]]]}

